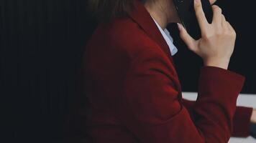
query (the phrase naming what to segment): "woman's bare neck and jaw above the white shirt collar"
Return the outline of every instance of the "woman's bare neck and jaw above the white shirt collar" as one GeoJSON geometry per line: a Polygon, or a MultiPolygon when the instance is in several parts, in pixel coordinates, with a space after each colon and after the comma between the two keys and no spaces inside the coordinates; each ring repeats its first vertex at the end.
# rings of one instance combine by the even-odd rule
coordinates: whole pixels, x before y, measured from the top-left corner
{"type": "Polygon", "coordinates": [[[166,6],[163,5],[164,4],[160,2],[146,2],[145,8],[155,21],[157,21],[157,24],[159,24],[162,29],[165,29],[168,25],[168,14],[166,14],[166,6]]]}

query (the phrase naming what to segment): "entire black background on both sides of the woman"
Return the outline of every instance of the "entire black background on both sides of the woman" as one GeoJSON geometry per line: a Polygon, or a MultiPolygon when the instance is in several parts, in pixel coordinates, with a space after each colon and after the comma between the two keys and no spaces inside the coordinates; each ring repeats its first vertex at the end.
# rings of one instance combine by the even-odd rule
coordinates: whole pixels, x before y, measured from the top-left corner
{"type": "MultiPolygon", "coordinates": [[[[255,8],[252,1],[219,0],[237,31],[229,69],[243,74],[243,93],[256,94],[255,8]]],[[[0,95],[4,142],[60,142],[73,113],[81,57],[96,22],[86,0],[0,0],[0,95]]],[[[184,92],[197,91],[201,59],[168,27],[184,92]]],[[[2,137],[1,137],[2,136],[2,137]]],[[[0,142],[1,142],[0,140],[0,142]]]]}

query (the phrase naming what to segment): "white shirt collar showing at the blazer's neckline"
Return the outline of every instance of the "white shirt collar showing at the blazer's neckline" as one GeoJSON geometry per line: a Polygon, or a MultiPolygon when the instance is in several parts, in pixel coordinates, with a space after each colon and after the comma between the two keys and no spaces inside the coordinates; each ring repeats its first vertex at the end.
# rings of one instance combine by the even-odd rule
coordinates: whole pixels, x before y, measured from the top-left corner
{"type": "MultiPolygon", "coordinates": [[[[152,17],[152,19],[155,21],[155,19],[152,17]]],[[[157,23],[157,21],[155,21],[155,24],[157,25],[159,31],[161,32],[161,34],[163,35],[163,38],[165,39],[166,43],[169,46],[170,49],[170,54],[173,56],[178,52],[178,49],[176,48],[176,46],[173,44],[173,37],[170,36],[170,32],[168,31],[168,29],[163,30],[161,28],[161,26],[157,23]]]]}

